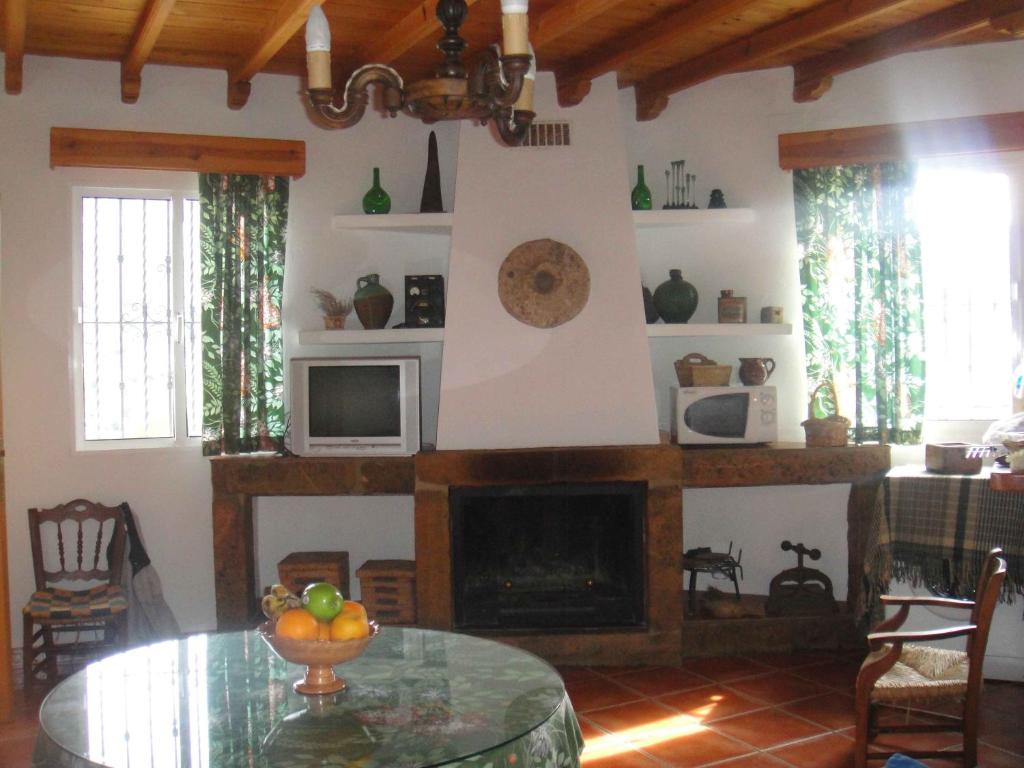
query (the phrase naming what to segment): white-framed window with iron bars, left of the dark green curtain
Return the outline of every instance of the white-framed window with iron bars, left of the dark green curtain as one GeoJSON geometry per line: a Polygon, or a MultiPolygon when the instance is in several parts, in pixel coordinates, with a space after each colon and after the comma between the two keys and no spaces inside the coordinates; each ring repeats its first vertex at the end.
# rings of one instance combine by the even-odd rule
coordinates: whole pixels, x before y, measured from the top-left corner
{"type": "Polygon", "coordinates": [[[195,190],[75,190],[76,443],[184,443],[202,434],[195,190]]]}

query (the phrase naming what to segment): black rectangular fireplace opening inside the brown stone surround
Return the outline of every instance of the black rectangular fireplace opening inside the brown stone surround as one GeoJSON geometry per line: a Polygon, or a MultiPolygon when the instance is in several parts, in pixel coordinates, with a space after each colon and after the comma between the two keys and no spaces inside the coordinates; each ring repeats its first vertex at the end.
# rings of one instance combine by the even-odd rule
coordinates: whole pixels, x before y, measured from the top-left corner
{"type": "Polygon", "coordinates": [[[644,626],[646,483],[453,487],[461,629],[644,626]]]}

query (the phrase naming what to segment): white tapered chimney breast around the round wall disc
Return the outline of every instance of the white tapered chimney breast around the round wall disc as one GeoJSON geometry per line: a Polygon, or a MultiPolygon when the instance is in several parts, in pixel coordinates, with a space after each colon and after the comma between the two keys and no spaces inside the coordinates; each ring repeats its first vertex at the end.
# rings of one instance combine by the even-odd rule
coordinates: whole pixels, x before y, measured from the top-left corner
{"type": "Polygon", "coordinates": [[[502,147],[482,130],[459,142],[437,446],[655,443],[614,80],[559,110],[542,74],[535,108],[571,123],[569,146],[502,147]],[[498,295],[509,252],[544,238],[575,250],[590,274],[587,304],[555,328],[520,323],[498,295]]]}

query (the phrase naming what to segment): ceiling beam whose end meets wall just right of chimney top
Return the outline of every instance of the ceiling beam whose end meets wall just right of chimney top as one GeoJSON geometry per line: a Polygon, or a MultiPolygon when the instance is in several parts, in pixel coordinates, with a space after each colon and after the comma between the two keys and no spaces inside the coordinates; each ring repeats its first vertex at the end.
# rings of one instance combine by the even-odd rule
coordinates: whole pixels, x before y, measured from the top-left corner
{"type": "Polygon", "coordinates": [[[765,59],[820,40],[908,0],[830,0],[798,16],[715,48],[636,84],[637,120],[653,120],[666,97],[706,80],[756,68],[765,59]]]}

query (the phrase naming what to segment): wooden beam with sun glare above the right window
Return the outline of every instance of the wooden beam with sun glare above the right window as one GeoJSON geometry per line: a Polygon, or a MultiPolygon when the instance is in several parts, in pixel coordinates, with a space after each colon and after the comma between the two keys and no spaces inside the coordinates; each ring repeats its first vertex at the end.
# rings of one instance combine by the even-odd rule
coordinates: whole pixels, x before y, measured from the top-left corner
{"type": "Polygon", "coordinates": [[[1024,112],[782,133],[782,170],[1024,151],[1024,112]]]}

